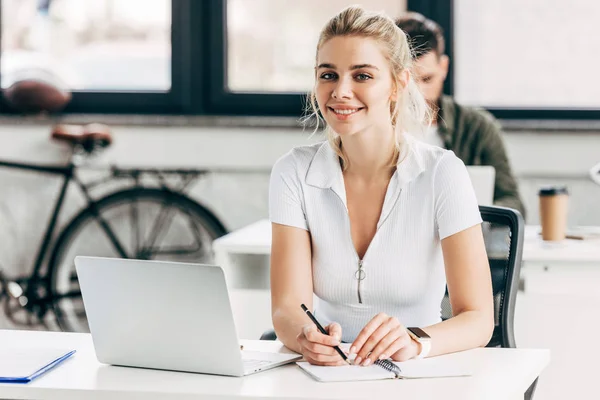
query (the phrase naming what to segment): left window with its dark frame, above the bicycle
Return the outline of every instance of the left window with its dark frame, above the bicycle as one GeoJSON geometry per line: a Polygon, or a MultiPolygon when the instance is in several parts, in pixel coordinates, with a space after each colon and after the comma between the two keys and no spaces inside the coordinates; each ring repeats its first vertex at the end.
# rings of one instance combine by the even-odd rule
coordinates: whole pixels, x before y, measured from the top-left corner
{"type": "MultiPolygon", "coordinates": [[[[0,86],[62,82],[66,113],[190,110],[190,0],[0,0],[0,86]]],[[[200,38],[202,39],[202,38],[200,38]]],[[[0,112],[14,112],[0,98],[0,112]]]]}

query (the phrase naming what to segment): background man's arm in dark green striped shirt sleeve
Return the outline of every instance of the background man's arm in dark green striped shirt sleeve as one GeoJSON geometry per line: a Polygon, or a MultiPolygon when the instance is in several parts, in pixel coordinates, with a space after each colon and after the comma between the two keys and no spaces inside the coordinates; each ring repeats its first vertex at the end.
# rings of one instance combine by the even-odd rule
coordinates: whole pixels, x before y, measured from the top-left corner
{"type": "Polygon", "coordinates": [[[480,135],[483,143],[480,161],[481,164],[491,165],[496,169],[494,204],[514,208],[525,219],[525,206],[519,195],[519,187],[506,156],[500,124],[492,118],[491,116],[482,118],[480,135]]]}

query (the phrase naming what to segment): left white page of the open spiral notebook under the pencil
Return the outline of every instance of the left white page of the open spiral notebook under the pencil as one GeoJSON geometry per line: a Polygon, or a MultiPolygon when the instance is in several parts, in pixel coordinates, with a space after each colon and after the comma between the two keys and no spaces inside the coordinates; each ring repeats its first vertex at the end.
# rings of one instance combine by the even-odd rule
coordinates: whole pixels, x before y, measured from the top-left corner
{"type": "Polygon", "coordinates": [[[321,382],[374,381],[396,377],[392,372],[386,371],[377,365],[369,365],[368,367],[357,365],[322,367],[320,365],[311,365],[305,361],[297,362],[296,364],[321,382]]]}

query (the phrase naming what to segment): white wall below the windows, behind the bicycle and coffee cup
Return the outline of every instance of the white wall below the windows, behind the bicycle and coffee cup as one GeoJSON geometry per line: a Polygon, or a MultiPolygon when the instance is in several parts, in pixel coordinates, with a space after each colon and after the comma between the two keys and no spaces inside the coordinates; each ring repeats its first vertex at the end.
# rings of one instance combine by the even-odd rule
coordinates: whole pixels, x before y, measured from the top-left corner
{"type": "MultiPolygon", "coordinates": [[[[291,147],[308,144],[310,132],[283,128],[115,126],[114,144],[96,164],[194,166],[219,169],[199,182],[193,196],[207,204],[229,229],[267,216],[269,171],[291,147]],[[225,172],[223,170],[229,170],[225,172]]],[[[39,163],[64,162],[68,147],[51,143],[49,127],[0,127],[0,158],[39,163]]],[[[569,222],[600,225],[600,186],[587,170],[600,161],[594,133],[507,133],[506,144],[528,210],[538,221],[537,188],[563,182],[571,191],[569,222]]],[[[29,271],[60,181],[36,173],[0,169],[0,265],[9,273],[29,271]]],[[[68,197],[65,222],[81,198],[68,197]]]]}

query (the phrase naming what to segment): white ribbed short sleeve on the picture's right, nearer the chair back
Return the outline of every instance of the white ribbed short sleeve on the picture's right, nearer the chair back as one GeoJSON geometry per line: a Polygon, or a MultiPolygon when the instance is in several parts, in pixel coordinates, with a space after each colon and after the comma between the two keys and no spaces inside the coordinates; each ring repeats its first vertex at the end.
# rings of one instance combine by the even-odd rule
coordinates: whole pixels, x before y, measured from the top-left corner
{"type": "Polygon", "coordinates": [[[433,184],[440,239],[482,222],[467,168],[452,151],[445,152],[438,162],[433,184]]]}

